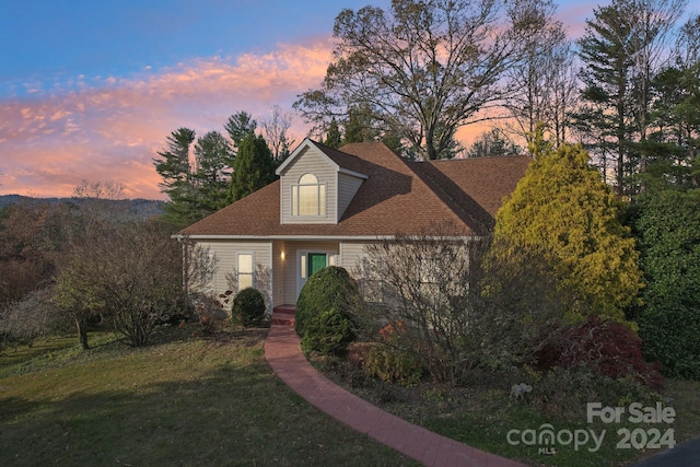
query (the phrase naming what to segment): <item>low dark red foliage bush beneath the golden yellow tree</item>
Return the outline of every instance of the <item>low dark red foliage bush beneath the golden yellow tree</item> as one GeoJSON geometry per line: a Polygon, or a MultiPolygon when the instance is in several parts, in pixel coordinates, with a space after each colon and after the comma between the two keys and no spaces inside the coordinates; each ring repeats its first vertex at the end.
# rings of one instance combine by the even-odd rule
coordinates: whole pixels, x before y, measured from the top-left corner
{"type": "Polygon", "coordinates": [[[535,367],[550,370],[587,367],[598,376],[632,377],[653,388],[664,380],[658,364],[644,361],[642,340],[628,327],[604,322],[596,315],[564,329],[558,339],[535,354],[535,367]]]}

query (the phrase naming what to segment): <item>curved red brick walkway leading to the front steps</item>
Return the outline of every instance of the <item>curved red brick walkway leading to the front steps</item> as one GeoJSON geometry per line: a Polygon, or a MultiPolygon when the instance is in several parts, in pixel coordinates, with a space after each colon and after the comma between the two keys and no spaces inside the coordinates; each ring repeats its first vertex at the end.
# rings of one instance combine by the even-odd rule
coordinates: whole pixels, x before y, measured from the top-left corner
{"type": "Polygon", "coordinates": [[[523,466],[409,423],[337,386],[306,361],[292,326],[272,324],[265,358],[277,376],[306,401],[425,466],[523,466]]]}

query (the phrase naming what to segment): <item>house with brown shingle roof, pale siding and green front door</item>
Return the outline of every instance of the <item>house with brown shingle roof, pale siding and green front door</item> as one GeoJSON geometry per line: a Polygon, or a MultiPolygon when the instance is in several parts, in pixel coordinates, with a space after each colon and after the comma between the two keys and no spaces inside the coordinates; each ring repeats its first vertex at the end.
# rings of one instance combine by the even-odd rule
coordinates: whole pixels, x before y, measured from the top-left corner
{"type": "Polygon", "coordinates": [[[305,139],[277,182],[179,234],[213,256],[211,292],[254,285],[272,307],[293,305],[316,270],[352,271],[364,245],[378,237],[417,234],[445,220],[467,237],[487,234],[529,161],[409,162],[381,142],[337,150],[305,139]]]}

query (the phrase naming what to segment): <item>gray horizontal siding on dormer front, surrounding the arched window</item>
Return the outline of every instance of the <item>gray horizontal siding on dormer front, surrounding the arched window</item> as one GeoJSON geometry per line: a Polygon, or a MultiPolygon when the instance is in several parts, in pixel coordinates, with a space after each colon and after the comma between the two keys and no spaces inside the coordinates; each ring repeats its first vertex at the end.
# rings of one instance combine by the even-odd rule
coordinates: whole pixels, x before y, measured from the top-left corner
{"type": "Polygon", "coordinates": [[[281,176],[281,220],[283,224],[328,224],[337,223],[336,170],[328,159],[315,148],[306,149],[281,176]],[[292,186],[299,183],[304,174],[314,174],[319,184],[326,185],[325,217],[292,217],[292,186]]]}

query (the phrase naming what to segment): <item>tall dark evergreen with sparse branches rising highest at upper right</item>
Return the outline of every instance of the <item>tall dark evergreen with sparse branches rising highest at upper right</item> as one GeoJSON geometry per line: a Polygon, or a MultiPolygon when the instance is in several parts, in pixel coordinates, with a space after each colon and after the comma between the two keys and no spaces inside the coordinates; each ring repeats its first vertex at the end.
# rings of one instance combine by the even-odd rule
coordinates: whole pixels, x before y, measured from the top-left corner
{"type": "Polygon", "coordinates": [[[646,168],[651,83],[684,4],[685,0],[614,0],[594,11],[595,19],[586,21],[579,40],[586,105],[574,125],[593,141],[603,173],[614,170],[618,195],[635,192],[633,176],[646,168]]]}

